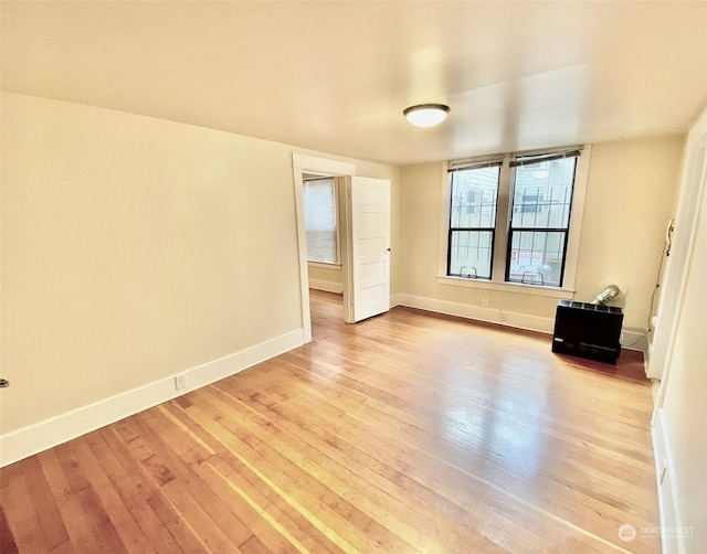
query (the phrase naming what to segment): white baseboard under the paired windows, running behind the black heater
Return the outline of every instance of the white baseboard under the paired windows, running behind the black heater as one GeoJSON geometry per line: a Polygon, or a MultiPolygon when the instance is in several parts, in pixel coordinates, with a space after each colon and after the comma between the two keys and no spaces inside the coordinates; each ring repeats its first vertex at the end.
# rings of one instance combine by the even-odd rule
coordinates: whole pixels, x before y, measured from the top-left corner
{"type": "MultiPolygon", "coordinates": [[[[540,333],[551,334],[555,330],[553,318],[541,318],[515,311],[504,311],[496,308],[450,302],[446,300],[437,300],[436,298],[399,294],[391,298],[390,305],[391,308],[394,306],[408,306],[409,308],[435,311],[437,313],[474,319],[487,323],[498,323],[500,326],[513,327],[515,329],[526,329],[528,331],[537,331],[540,333]]],[[[623,345],[624,349],[645,352],[644,349],[647,348],[645,333],[631,330],[624,330],[622,332],[622,343],[626,344],[623,345]]]]}

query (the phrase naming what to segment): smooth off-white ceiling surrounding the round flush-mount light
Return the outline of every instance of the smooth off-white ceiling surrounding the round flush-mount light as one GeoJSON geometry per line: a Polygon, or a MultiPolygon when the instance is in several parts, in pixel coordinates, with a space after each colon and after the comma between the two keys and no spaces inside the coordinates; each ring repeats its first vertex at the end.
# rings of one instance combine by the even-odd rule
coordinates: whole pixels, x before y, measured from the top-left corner
{"type": "Polygon", "coordinates": [[[2,88],[389,163],[682,132],[707,2],[7,2],[2,88]],[[419,129],[402,110],[452,108],[419,129]]]}

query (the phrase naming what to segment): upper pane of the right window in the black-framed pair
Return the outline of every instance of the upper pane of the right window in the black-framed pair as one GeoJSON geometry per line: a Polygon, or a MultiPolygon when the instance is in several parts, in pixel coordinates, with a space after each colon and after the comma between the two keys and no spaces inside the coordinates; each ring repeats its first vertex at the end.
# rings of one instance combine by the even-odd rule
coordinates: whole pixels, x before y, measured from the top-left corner
{"type": "Polygon", "coordinates": [[[515,228],[568,228],[577,158],[544,161],[515,169],[515,228]]]}

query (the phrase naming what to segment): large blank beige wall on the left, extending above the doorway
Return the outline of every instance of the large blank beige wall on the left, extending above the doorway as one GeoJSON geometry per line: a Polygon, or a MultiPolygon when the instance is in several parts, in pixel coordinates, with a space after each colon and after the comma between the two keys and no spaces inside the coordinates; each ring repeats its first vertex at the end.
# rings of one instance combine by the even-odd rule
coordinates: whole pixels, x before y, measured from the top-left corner
{"type": "Polygon", "coordinates": [[[1,139],[0,434],[302,327],[293,147],[4,93],[1,139]]]}

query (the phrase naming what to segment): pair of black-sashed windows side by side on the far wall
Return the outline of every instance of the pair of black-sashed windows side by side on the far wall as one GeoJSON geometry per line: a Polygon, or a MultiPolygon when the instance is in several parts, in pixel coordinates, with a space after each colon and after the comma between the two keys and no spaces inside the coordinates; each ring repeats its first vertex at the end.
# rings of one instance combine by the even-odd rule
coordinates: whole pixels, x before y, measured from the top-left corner
{"type": "MultiPolygon", "coordinates": [[[[570,245],[579,244],[570,230],[580,153],[450,162],[446,276],[563,287],[570,245]]],[[[585,168],[581,199],[584,181],[585,168]]],[[[576,259],[572,252],[570,286],[576,259]]]]}

